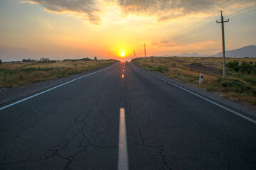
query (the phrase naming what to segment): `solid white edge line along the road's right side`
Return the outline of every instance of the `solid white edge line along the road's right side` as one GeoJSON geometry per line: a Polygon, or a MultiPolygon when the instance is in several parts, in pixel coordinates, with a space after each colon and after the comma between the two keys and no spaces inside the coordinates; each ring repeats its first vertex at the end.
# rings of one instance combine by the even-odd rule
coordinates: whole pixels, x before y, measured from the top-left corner
{"type": "MultiPolygon", "coordinates": [[[[133,64],[133,63],[132,63],[133,64]]],[[[135,64],[133,64],[135,67],[137,67],[135,64]]],[[[141,68],[139,68],[139,67],[137,67],[137,69],[141,69],[141,68]]],[[[143,72],[146,72],[144,69],[141,69],[143,72]]],[[[235,114],[235,115],[238,115],[238,116],[240,116],[241,118],[244,118],[244,119],[246,119],[246,120],[249,120],[250,122],[252,122],[252,123],[255,123],[256,124],[256,120],[253,120],[253,119],[251,119],[251,118],[248,118],[247,116],[245,116],[245,115],[242,115],[241,113],[238,113],[238,112],[236,112],[236,111],[233,111],[233,110],[231,110],[230,108],[226,108],[225,106],[222,106],[222,105],[220,105],[220,104],[218,104],[218,103],[215,103],[214,101],[210,101],[208,98],[205,98],[205,97],[203,97],[203,96],[200,96],[200,95],[198,95],[198,94],[195,94],[194,92],[192,92],[192,91],[189,91],[188,89],[185,89],[185,88],[183,88],[183,87],[181,87],[181,86],[178,86],[177,84],[174,84],[174,83],[172,83],[172,82],[170,82],[170,81],[167,81],[166,79],[162,79],[161,77],[158,77],[158,76],[156,76],[156,75],[154,75],[154,74],[151,74],[150,72],[146,72],[147,74],[150,74],[151,76],[154,76],[154,77],[156,77],[156,78],[158,78],[158,79],[161,79],[162,81],[166,81],[167,83],[169,83],[169,84],[172,84],[172,85],[174,85],[174,86],[176,86],[176,87],[178,87],[178,88],[180,88],[180,89],[183,89],[184,91],[187,91],[188,93],[190,93],[190,94],[193,94],[193,95],[195,95],[195,96],[198,96],[199,98],[203,98],[204,100],[206,100],[206,101],[208,101],[208,102],[210,102],[210,103],[213,103],[215,106],[219,106],[220,108],[223,108],[223,109],[225,109],[226,111],[230,111],[231,113],[233,113],[233,114],[235,114]]]]}

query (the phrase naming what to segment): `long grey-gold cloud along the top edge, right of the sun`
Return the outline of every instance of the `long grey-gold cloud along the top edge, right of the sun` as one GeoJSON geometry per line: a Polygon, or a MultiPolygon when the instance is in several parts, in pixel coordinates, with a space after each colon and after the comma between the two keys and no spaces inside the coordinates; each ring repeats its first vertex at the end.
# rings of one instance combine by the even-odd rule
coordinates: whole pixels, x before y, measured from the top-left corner
{"type": "MultiPolygon", "coordinates": [[[[255,0],[243,1],[250,3],[255,0]]],[[[124,16],[129,14],[157,16],[158,21],[187,16],[195,13],[215,13],[238,1],[230,0],[117,0],[124,16]]]]}

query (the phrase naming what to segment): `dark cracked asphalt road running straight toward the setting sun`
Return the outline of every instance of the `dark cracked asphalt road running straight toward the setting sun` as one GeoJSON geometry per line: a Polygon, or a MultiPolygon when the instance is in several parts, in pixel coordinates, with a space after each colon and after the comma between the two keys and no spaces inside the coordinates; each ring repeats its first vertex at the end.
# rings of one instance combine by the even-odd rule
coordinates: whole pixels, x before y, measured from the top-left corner
{"type": "Polygon", "coordinates": [[[128,62],[0,111],[2,170],[255,170],[255,160],[255,123],[128,62]]]}

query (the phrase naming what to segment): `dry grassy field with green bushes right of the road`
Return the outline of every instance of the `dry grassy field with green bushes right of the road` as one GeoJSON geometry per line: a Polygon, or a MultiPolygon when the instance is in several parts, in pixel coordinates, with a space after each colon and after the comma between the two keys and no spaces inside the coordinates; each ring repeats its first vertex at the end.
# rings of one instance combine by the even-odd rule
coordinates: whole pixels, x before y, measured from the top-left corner
{"type": "Polygon", "coordinates": [[[256,58],[226,58],[226,79],[222,78],[222,58],[146,57],[132,62],[166,77],[217,92],[233,101],[256,105],[256,58]],[[201,73],[203,84],[198,84],[201,73]]]}

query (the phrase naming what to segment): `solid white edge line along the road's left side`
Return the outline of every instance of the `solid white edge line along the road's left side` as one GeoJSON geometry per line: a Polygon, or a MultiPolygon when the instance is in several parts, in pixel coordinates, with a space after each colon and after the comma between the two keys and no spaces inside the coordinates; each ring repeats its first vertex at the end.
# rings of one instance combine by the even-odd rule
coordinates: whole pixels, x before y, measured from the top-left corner
{"type": "MultiPolygon", "coordinates": [[[[116,64],[117,64],[117,63],[116,63],[116,64]]],[[[114,66],[114,65],[115,65],[115,64],[112,64],[110,67],[112,67],[112,66],[114,66]]],[[[110,67],[106,67],[105,69],[108,69],[108,68],[110,68],[110,67]]],[[[100,70],[98,70],[97,72],[102,72],[102,71],[105,70],[105,69],[100,69],[100,70]]],[[[40,93],[38,93],[38,94],[34,94],[33,96],[29,96],[29,97],[27,97],[27,98],[23,98],[23,99],[20,100],[20,101],[16,101],[16,102],[11,103],[11,104],[9,104],[9,105],[7,105],[7,106],[1,107],[1,108],[0,108],[0,111],[1,111],[1,110],[4,110],[5,108],[9,108],[9,107],[11,107],[11,106],[14,106],[14,105],[16,105],[16,104],[18,104],[18,103],[21,103],[21,102],[23,102],[23,101],[27,101],[27,100],[30,99],[30,98],[33,98],[33,97],[39,96],[39,95],[41,95],[41,94],[44,94],[44,93],[46,93],[46,92],[48,92],[48,91],[51,91],[51,90],[53,90],[53,89],[57,89],[58,87],[63,86],[63,85],[65,85],[65,84],[69,84],[69,83],[71,83],[71,82],[73,82],[73,81],[76,81],[76,80],[78,80],[78,79],[82,79],[82,78],[84,78],[84,77],[88,77],[88,76],[90,76],[90,75],[92,75],[92,74],[95,74],[95,73],[97,73],[97,72],[93,72],[93,73],[87,74],[87,75],[85,75],[85,76],[78,77],[78,78],[76,78],[76,79],[70,80],[70,81],[65,82],[65,83],[63,83],[63,84],[60,84],[60,85],[55,86],[55,87],[53,87],[53,88],[50,88],[50,89],[48,89],[48,90],[46,90],[46,91],[42,91],[42,92],[40,92],[40,93]]]]}

